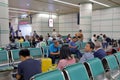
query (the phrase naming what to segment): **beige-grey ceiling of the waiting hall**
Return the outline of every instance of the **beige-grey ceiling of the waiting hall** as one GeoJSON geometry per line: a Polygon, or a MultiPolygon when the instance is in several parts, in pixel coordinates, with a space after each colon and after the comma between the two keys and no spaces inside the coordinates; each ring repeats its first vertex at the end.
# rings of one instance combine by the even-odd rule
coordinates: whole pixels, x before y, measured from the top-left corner
{"type": "MultiPolygon", "coordinates": [[[[25,12],[38,13],[39,11],[52,12],[57,14],[67,14],[79,12],[79,7],[55,2],[53,0],[8,0],[9,1],[9,15],[11,17],[19,16],[25,12]]],[[[88,3],[89,0],[61,0],[72,4],[88,3]]],[[[120,6],[120,0],[96,0],[101,3],[110,5],[111,7],[120,6]]],[[[93,9],[106,8],[99,4],[93,4],[93,9]]]]}

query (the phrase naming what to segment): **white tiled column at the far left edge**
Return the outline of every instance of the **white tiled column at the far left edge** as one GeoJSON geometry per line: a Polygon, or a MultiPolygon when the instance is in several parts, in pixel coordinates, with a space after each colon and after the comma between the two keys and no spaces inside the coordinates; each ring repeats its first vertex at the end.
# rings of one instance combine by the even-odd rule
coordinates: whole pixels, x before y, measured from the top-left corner
{"type": "Polygon", "coordinates": [[[0,0],[0,47],[9,43],[8,0],[0,0]]]}

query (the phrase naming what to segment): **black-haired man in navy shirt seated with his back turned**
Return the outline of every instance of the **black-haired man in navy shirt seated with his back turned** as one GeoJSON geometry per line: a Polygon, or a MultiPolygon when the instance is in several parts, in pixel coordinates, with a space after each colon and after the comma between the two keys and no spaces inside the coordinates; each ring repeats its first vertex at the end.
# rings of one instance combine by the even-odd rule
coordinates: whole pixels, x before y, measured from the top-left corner
{"type": "Polygon", "coordinates": [[[18,64],[17,80],[30,80],[30,78],[38,73],[41,73],[41,63],[30,57],[28,49],[22,49],[19,52],[21,63],[18,64]]]}

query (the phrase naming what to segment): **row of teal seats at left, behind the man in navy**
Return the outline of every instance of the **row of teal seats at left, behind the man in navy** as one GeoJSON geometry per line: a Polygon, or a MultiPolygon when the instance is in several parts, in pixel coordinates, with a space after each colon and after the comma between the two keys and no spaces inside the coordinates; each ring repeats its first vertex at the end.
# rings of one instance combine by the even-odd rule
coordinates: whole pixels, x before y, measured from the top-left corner
{"type": "MultiPolygon", "coordinates": [[[[48,46],[42,48],[28,48],[30,50],[30,55],[34,59],[38,59],[44,57],[44,55],[48,56],[48,46]]],[[[14,50],[2,50],[0,51],[0,71],[11,70],[16,64],[20,62],[19,58],[20,49],[14,50]]]]}

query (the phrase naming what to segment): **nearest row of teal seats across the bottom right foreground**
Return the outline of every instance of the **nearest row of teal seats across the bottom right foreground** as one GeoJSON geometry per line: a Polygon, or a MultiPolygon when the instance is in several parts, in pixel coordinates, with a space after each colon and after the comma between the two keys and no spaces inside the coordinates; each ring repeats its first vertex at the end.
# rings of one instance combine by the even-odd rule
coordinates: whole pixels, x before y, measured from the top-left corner
{"type": "Polygon", "coordinates": [[[120,53],[34,75],[31,80],[120,80],[120,53]]]}

